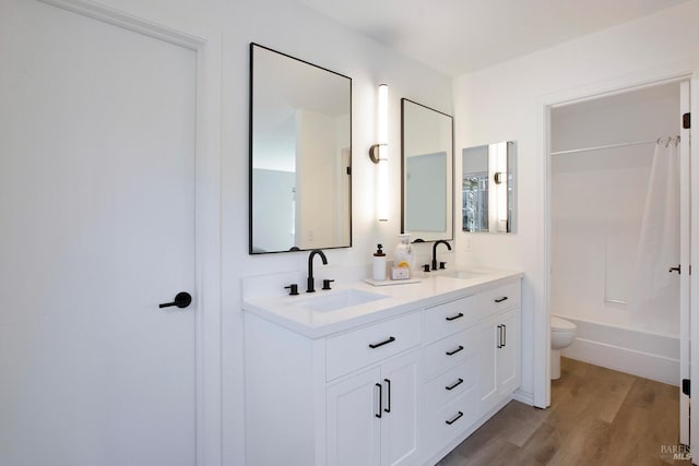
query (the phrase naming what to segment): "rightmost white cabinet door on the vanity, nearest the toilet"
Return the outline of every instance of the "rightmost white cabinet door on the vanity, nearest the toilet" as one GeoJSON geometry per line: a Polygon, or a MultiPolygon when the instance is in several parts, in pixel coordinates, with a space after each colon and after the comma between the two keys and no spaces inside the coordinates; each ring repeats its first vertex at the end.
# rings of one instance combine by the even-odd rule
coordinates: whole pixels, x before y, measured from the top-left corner
{"type": "MultiPolygon", "coordinates": [[[[520,312],[514,309],[500,315],[501,348],[497,353],[498,397],[509,395],[520,385],[520,312]]],[[[496,326],[497,328],[497,326],[496,326]]]]}

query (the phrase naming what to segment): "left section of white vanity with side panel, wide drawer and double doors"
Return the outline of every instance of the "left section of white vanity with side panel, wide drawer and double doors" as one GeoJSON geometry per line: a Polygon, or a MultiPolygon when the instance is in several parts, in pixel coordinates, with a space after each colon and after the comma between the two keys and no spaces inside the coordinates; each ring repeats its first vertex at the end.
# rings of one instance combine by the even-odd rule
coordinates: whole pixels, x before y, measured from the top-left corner
{"type": "Polygon", "coordinates": [[[245,325],[248,465],[414,463],[420,311],[315,339],[245,325]]]}

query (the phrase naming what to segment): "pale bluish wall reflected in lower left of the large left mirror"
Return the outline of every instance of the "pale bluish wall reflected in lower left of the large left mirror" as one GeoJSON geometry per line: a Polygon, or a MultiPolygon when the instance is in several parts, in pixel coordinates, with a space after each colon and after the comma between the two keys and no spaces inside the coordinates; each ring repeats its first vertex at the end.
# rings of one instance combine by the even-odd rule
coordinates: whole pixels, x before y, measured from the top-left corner
{"type": "Polygon", "coordinates": [[[286,251],[294,246],[292,206],[296,176],[292,171],[252,170],[256,211],[252,235],[258,252],[286,251]],[[260,187],[264,187],[261,189],[260,187]],[[260,215],[264,212],[264,215],[260,215]]]}

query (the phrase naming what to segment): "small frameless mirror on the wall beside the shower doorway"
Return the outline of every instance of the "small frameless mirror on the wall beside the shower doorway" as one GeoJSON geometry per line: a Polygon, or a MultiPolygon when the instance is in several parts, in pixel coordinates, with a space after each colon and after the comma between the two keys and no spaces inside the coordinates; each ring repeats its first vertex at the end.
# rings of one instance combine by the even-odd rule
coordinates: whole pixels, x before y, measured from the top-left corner
{"type": "Polygon", "coordinates": [[[512,232],[516,227],[517,143],[498,142],[462,151],[462,228],[512,232]]]}

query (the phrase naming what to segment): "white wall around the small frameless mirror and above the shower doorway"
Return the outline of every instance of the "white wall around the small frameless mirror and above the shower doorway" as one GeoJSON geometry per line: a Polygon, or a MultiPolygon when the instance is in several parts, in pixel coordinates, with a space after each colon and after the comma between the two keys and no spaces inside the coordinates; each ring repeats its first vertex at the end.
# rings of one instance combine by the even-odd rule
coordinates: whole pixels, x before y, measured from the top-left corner
{"type": "Polygon", "coordinates": [[[524,271],[522,390],[533,393],[537,405],[546,403],[548,386],[542,377],[548,345],[545,107],[694,71],[699,65],[697,17],[699,2],[686,2],[454,80],[458,152],[518,141],[517,234],[460,232],[457,251],[463,265],[524,271]]]}

